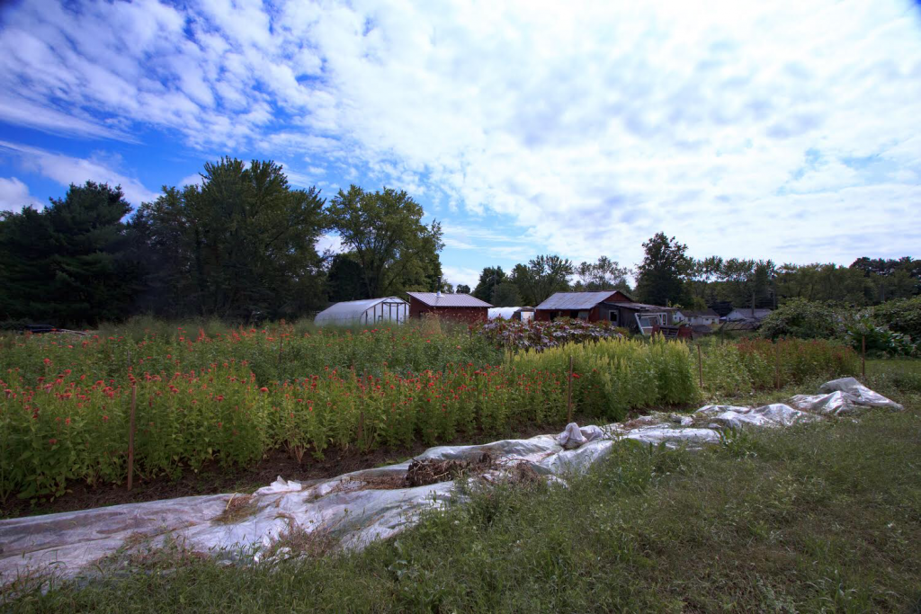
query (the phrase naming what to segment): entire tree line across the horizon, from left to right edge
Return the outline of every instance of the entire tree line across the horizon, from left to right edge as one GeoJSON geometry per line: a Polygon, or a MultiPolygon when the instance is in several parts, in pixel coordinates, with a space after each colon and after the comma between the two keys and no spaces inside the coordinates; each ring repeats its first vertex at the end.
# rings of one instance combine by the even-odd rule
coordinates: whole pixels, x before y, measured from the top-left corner
{"type": "Polygon", "coordinates": [[[424,224],[405,191],[353,185],[327,202],[316,188],[293,189],[274,162],[230,157],[205,164],[201,176],[200,185],[164,186],[135,212],[120,187],[87,181],[41,210],[0,214],[0,321],[297,318],[330,302],[412,290],[471,293],[496,307],[594,290],[688,308],[789,298],[868,306],[921,294],[921,261],[910,257],[847,267],[696,260],[663,233],[643,244],[634,268],[544,254],[508,272],[485,267],[474,288],[454,287],[442,279],[441,226],[424,224]],[[339,237],[341,251],[318,251],[326,234],[339,237]]]}

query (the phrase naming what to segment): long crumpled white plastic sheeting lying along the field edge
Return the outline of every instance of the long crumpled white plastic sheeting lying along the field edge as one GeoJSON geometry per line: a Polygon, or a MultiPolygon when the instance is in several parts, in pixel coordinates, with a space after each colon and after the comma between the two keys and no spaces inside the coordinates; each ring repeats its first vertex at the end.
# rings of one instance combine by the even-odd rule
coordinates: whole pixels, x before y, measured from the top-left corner
{"type": "MultiPolygon", "coordinates": [[[[828,382],[822,392],[791,400],[799,409],[782,403],[757,408],[707,405],[692,414],[654,413],[602,427],[579,428],[570,423],[557,435],[482,446],[437,446],[415,459],[475,460],[488,452],[495,464],[483,474],[485,481],[501,481],[523,464],[538,476],[565,484],[567,473],[588,468],[624,439],[695,448],[718,443],[726,428],[779,428],[841,412],[829,410],[832,406],[846,406],[848,411],[859,407],[902,409],[853,378],[828,382]]],[[[412,527],[420,514],[444,506],[455,495],[453,481],[415,488],[367,488],[369,482],[380,478],[397,478],[399,482],[409,465],[407,461],[365,469],[311,485],[279,477],[252,495],[249,516],[229,524],[218,523],[216,518],[234,497],[248,495],[182,497],[0,521],[0,586],[27,575],[74,577],[89,573],[117,552],[157,547],[168,538],[195,552],[228,559],[251,556],[259,562],[267,547],[288,527],[297,525],[310,532],[327,532],[344,548],[361,548],[412,527]]],[[[274,558],[284,552],[277,549],[274,558]]]]}

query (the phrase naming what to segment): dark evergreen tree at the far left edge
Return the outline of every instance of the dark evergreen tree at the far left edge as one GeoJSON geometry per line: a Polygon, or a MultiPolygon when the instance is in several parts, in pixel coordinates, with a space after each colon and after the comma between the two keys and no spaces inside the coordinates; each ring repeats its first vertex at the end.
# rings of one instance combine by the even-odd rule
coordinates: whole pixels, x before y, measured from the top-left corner
{"type": "Polygon", "coordinates": [[[120,186],[71,184],[41,211],[0,217],[0,310],[6,318],[80,325],[129,315],[141,285],[120,186]]]}

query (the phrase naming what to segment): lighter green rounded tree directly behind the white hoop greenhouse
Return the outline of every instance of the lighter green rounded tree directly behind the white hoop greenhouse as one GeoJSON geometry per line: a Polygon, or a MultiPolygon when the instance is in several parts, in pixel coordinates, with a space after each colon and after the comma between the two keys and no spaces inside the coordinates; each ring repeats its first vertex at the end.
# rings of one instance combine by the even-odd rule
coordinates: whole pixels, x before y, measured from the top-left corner
{"type": "Polygon", "coordinates": [[[405,191],[340,190],[327,214],[343,245],[361,265],[368,296],[437,288],[441,225],[422,223],[422,207],[405,191]]]}

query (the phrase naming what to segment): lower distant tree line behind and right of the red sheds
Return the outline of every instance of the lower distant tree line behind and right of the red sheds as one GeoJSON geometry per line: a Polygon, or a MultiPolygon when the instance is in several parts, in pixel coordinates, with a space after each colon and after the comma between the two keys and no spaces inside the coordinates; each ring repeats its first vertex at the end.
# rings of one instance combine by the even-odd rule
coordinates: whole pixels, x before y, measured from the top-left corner
{"type": "Polygon", "coordinates": [[[635,268],[606,256],[581,262],[544,255],[517,264],[510,272],[485,267],[473,295],[496,307],[538,305],[554,292],[622,290],[651,305],[689,309],[777,307],[791,298],[865,307],[921,294],[921,261],[858,258],[850,266],[834,263],[782,264],[773,261],[694,259],[675,237],[657,233],[643,243],[635,268]],[[635,278],[635,286],[628,283],[635,278]]]}

